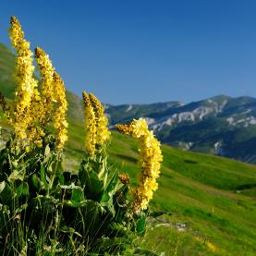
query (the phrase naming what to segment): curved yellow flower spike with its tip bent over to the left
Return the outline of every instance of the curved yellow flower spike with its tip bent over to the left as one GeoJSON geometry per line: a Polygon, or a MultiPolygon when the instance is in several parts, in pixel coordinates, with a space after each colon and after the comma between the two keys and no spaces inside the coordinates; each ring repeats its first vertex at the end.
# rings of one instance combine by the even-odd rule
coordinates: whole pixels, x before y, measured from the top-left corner
{"type": "Polygon", "coordinates": [[[116,128],[140,141],[139,164],[142,172],[134,200],[135,213],[140,213],[141,210],[147,209],[153,191],[158,188],[156,179],[160,175],[160,163],[163,161],[160,142],[155,139],[152,131],[148,129],[146,121],[141,118],[133,120],[128,125],[116,125],[116,128]]]}

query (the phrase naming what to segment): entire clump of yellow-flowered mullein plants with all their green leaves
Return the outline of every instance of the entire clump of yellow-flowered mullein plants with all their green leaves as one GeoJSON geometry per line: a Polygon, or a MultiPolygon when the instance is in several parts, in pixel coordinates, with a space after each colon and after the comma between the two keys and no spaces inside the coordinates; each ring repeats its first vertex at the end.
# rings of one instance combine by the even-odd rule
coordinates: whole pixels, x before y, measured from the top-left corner
{"type": "Polygon", "coordinates": [[[11,18],[9,35],[17,50],[17,86],[14,105],[7,105],[0,95],[13,128],[0,152],[0,254],[119,255],[132,251],[134,238],[145,233],[148,204],[157,189],[162,161],[159,141],[143,119],[116,126],[140,142],[140,182],[132,189],[128,175],[109,165],[111,133],[104,106],[83,91],[84,157],[77,172],[65,171],[64,82],[39,47],[34,59],[41,80],[35,79],[30,43],[17,18],[11,18]]]}

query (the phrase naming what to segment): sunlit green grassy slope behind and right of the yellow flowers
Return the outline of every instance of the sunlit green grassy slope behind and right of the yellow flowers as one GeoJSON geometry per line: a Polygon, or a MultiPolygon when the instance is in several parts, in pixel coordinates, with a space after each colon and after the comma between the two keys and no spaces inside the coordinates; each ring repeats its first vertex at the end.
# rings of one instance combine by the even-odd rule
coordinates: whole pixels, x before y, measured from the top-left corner
{"type": "MultiPolygon", "coordinates": [[[[71,121],[69,137],[67,166],[76,169],[83,140],[79,123],[71,121]]],[[[109,152],[134,182],[140,173],[134,140],[113,132],[109,152]]],[[[255,255],[256,166],[168,146],[163,152],[151,205],[166,214],[150,219],[146,237],[138,242],[165,255],[255,255]],[[177,231],[179,224],[186,230],[177,231]]]]}

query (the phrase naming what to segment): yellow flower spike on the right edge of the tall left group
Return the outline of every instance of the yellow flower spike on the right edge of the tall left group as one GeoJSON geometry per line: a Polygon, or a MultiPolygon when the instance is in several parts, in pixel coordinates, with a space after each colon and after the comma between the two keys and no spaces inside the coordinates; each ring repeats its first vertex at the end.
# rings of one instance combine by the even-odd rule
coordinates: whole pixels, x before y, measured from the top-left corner
{"type": "Polygon", "coordinates": [[[54,72],[55,101],[56,109],[54,116],[54,127],[56,129],[56,147],[59,150],[64,148],[67,141],[67,99],[65,85],[57,72],[54,72]]]}

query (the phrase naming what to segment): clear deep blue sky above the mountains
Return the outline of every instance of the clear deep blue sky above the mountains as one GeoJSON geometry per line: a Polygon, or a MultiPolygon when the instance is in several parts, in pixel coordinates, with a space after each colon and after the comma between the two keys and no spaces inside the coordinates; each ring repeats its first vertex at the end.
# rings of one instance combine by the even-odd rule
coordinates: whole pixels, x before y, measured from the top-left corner
{"type": "Polygon", "coordinates": [[[253,0],[4,0],[0,42],[17,16],[67,89],[104,103],[256,97],[255,13],[253,0]]]}

